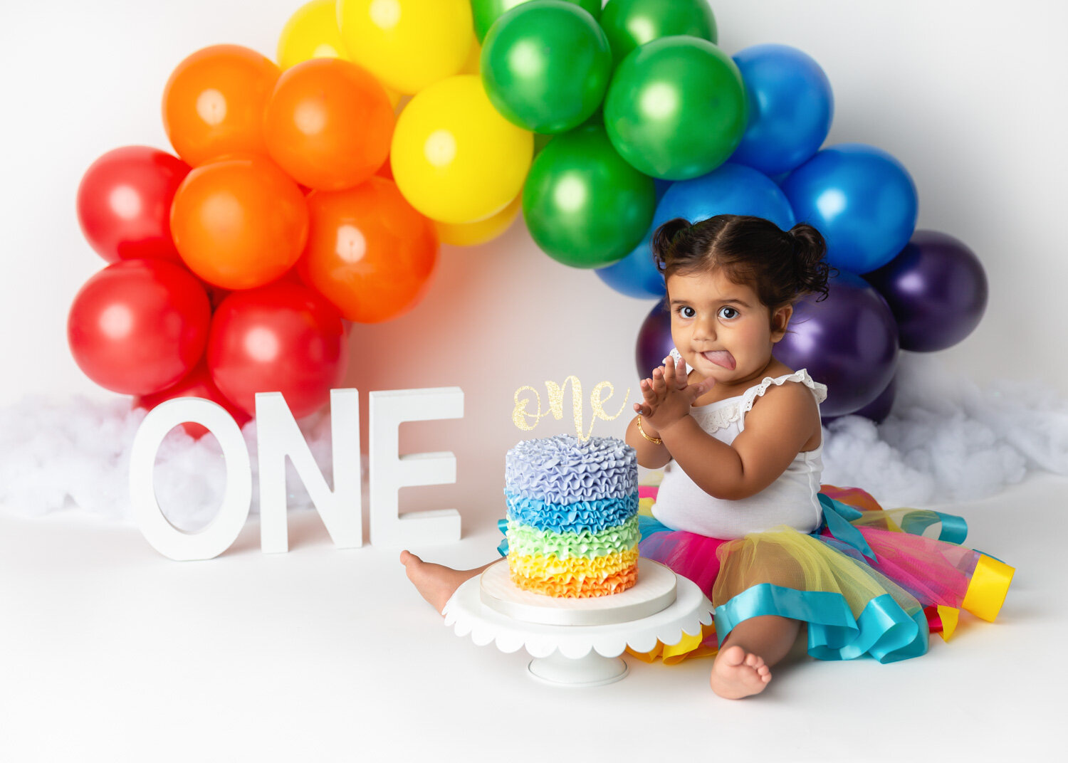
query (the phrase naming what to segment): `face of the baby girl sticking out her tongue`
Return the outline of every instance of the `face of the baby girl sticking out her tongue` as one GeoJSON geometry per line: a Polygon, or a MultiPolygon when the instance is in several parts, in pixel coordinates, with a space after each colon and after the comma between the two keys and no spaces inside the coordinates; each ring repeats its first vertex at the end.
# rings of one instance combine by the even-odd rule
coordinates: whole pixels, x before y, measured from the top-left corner
{"type": "Polygon", "coordinates": [[[671,335],[682,360],[722,384],[763,373],[772,345],[785,333],[772,331],[768,307],[751,286],[719,270],[670,275],[668,299],[671,335]]]}

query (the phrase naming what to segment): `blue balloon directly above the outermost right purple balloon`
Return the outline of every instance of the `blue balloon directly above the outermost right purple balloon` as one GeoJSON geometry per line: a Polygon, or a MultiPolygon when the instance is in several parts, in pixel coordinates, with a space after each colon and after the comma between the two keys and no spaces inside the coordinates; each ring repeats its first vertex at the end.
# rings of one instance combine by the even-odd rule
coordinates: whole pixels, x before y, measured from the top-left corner
{"type": "Polygon", "coordinates": [[[824,148],[791,172],[782,188],[797,219],[823,234],[827,260],[841,270],[882,267],[916,226],[916,186],[908,170],[864,143],[824,148]]]}

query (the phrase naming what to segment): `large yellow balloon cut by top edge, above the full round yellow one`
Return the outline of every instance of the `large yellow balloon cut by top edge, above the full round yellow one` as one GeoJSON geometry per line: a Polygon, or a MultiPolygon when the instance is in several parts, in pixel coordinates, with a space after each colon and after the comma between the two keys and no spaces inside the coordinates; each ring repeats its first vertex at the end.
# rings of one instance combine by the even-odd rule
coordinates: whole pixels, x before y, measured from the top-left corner
{"type": "Polygon", "coordinates": [[[414,94],[458,73],[474,42],[470,0],[337,0],[349,58],[414,94]]]}

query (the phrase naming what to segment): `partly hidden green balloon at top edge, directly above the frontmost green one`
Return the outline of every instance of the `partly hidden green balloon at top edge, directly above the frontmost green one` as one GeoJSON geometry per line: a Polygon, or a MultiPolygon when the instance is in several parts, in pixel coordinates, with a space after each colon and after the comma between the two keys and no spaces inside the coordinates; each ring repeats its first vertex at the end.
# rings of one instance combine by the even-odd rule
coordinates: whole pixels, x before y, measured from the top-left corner
{"type": "Polygon", "coordinates": [[[600,25],[615,65],[634,48],[658,37],[689,34],[717,42],[716,17],[707,0],[609,0],[600,25]]]}

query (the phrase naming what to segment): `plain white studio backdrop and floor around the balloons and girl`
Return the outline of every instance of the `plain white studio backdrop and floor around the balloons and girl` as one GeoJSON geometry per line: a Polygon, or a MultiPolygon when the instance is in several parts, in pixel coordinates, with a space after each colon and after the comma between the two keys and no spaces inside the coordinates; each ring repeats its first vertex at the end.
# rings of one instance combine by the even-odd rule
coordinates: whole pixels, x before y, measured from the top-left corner
{"type": "MultiPolygon", "coordinates": [[[[217,43],[272,54],[299,2],[3,5],[0,407],[36,394],[112,397],[66,347],[70,301],[104,266],[78,229],[78,181],[111,148],[167,147],[159,101],[183,58],[217,43]]],[[[1068,282],[1065,5],[1024,0],[1008,14],[986,0],[721,0],[713,9],[729,53],[784,43],[815,58],[835,92],[830,142],[894,154],[918,188],[920,225],[979,255],[989,309],[971,337],[940,353],[946,367],[1035,379],[1068,396],[1057,320],[1068,282]]],[[[409,315],[356,328],[348,381],[364,404],[370,390],[467,394],[464,419],[402,427],[404,449],[452,449],[458,459],[457,484],[402,491],[403,507],[462,514],[461,542],[419,553],[454,566],[491,558],[504,451],[531,434],[512,424],[513,392],[569,373],[586,390],[600,380],[633,387],[634,336],[650,306],[550,260],[520,222],[486,247],[445,249],[409,315]]],[[[533,434],[569,426],[545,422],[533,434]]],[[[596,431],[617,434],[622,420],[596,431]]],[[[522,652],[446,632],[394,551],[337,551],[311,512],[294,512],[288,554],[261,554],[250,522],[230,552],[190,563],[164,559],[134,527],[0,513],[0,758],[544,759],[537,731],[517,736],[523,721],[551,730],[548,749],[593,758],[610,737],[571,719],[637,711],[644,722],[625,743],[639,754],[655,745],[658,758],[697,760],[711,742],[739,760],[900,760],[908,752],[892,740],[873,744],[877,697],[905,719],[910,751],[1050,759],[1063,748],[1068,663],[1012,657],[1050,654],[1068,626],[1058,555],[1040,531],[1062,522],[1064,489],[1063,477],[1042,475],[948,509],[968,518],[970,544],[1019,566],[999,624],[962,619],[954,642],[933,638],[929,655],[891,666],[776,667],[765,697],[739,703],[710,695],[708,661],[631,659],[625,681],[599,689],[535,684],[522,652]]]]}

